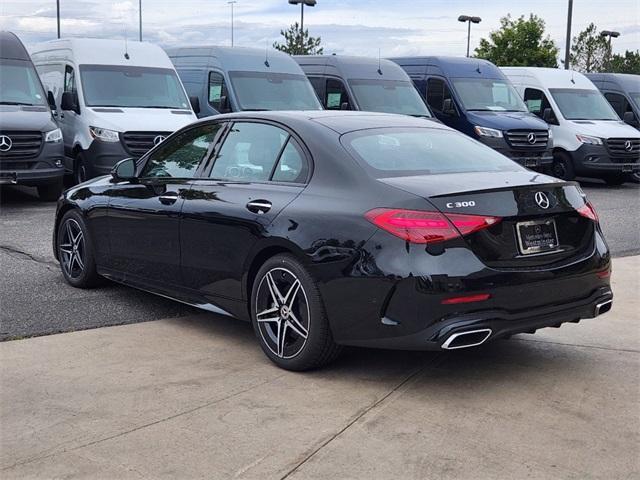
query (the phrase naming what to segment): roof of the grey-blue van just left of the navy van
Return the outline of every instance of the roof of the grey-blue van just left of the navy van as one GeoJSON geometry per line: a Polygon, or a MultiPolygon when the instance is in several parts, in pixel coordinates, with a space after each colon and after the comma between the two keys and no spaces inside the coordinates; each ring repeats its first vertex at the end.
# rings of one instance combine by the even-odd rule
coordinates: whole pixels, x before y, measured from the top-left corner
{"type": "Polygon", "coordinates": [[[348,55],[294,55],[293,58],[302,67],[328,67],[325,73],[337,74],[346,79],[411,81],[401,67],[384,58],[348,55]]]}

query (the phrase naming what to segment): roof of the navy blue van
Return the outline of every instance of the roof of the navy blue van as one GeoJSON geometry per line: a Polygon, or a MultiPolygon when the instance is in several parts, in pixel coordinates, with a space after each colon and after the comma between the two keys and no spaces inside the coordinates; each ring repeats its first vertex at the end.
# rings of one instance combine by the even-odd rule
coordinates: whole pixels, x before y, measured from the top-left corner
{"type": "Polygon", "coordinates": [[[493,63],[481,58],[467,57],[396,57],[391,58],[398,65],[406,66],[434,66],[438,67],[446,77],[459,78],[494,78],[504,80],[504,74],[493,63]]]}

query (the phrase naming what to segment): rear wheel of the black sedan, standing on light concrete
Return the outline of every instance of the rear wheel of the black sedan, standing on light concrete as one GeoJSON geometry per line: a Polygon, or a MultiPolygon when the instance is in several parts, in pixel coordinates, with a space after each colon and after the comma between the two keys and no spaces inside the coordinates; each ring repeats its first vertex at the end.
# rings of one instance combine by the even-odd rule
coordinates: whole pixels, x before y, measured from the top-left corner
{"type": "Polygon", "coordinates": [[[342,350],[333,341],[316,281],[293,255],[279,254],[262,265],[253,282],[250,309],[262,350],[280,368],[318,368],[335,360],[342,350]]]}

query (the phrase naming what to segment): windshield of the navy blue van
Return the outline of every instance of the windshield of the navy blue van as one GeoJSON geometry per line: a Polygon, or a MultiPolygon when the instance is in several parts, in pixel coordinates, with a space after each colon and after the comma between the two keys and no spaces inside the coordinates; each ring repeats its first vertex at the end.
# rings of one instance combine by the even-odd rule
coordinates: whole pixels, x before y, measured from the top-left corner
{"type": "Polygon", "coordinates": [[[527,107],[510,83],[487,78],[454,78],[453,87],[465,110],[526,112],[527,107]]]}

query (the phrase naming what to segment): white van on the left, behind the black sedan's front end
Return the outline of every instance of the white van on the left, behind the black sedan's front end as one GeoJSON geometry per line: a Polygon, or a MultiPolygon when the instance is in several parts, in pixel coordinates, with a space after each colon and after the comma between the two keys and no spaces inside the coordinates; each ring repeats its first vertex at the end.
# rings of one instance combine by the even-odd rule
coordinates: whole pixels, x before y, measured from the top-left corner
{"type": "Polygon", "coordinates": [[[196,116],[167,54],[146,42],[71,38],[31,53],[53,93],[65,169],[77,182],[142,156],[196,116]]]}

